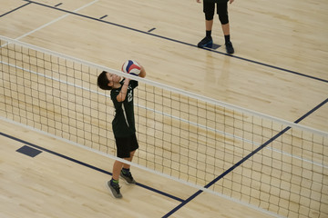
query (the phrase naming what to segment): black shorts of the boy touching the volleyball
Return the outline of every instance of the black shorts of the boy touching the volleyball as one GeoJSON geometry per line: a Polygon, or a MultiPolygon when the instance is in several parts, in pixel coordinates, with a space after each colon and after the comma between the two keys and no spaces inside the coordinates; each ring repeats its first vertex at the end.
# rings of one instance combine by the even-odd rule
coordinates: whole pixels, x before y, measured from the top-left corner
{"type": "Polygon", "coordinates": [[[130,153],[138,149],[138,141],[136,134],[128,137],[115,137],[117,144],[118,157],[128,158],[130,153]]]}

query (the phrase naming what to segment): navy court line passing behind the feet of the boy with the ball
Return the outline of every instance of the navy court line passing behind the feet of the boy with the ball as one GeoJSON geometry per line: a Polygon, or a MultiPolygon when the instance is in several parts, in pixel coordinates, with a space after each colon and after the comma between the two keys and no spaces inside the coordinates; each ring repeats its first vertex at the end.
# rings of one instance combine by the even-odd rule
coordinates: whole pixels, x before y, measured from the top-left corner
{"type": "MultiPolygon", "coordinates": [[[[43,151],[43,152],[46,152],[46,153],[48,153],[48,154],[56,155],[56,156],[58,156],[58,157],[60,157],[60,158],[63,158],[63,159],[65,159],[65,160],[67,160],[67,161],[70,161],[70,162],[73,162],[73,163],[77,163],[77,164],[82,165],[82,166],[86,166],[87,168],[90,168],[90,169],[95,170],[95,171],[97,171],[97,172],[105,173],[105,174],[108,174],[108,175],[112,175],[112,173],[110,173],[110,172],[108,172],[108,171],[106,171],[106,170],[103,170],[103,169],[101,169],[101,168],[98,168],[97,166],[91,165],[91,164],[89,164],[89,163],[81,162],[81,161],[79,161],[79,160],[77,160],[77,159],[75,159],[75,158],[69,157],[69,156],[67,156],[67,155],[65,155],[65,154],[59,154],[59,153],[56,153],[56,152],[54,152],[54,151],[52,151],[52,150],[50,150],[50,149],[44,148],[44,147],[42,147],[42,146],[40,146],[40,145],[36,145],[36,144],[29,143],[29,142],[27,142],[26,140],[19,139],[19,138],[15,137],[15,136],[12,136],[12,135],[9,135],[9,134],[5,134],[5,133],[3,133],[3,132],[0,132],[0,135],[4,136],[4,137],[6,137],[6,138],[9,138],[9,139],[11,139],[11,140],[14,140],[14,141],[16,141],[16,142],[19,142],[19,143],[21,143],[21,144],[26,144],[26,145],[28,145],[28,146],[34,147],[34,148],[36,148],[36,149],[38,149],[38,150],[41,150],[41,151],[43,151]]],[[[169,194],[169,193],[162,192],[162,191],[160,191],[160,190],[158,190],[158,189],[155,189],[155,188],[152,188],[152,187],[150,187],[150,186],[148,186],[148,185],[146,185],[146,184],[136,183],[136,185],[138,185],[138,186],[140,186],[140,187],[142,187],[142,188],[145,188],[145,189],[147,189],[147,190],[149,190],[149,191],[151,191],[151,192],[159,193],[159,194],[161,194],[161,195],[164,195],[164,196],[166,196],[166,197],[169,197],[170,199],[176,200],[176,201],[178,201],[178,202],[183,202],[183,201],[184,201],[183,199],[181,199],[181,198],[179,198],[179,197],[177,197],[177,196],[174,196],[174,195],[169,194]]]]}

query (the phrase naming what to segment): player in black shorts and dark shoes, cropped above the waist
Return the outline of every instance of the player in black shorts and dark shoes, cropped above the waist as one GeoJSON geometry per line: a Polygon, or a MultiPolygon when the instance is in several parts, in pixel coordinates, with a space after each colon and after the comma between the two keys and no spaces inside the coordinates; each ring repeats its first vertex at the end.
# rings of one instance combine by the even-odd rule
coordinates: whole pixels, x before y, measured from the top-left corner
{"type": "MultiPolygon", "coordinates": [[[[201,0],[197,0],[197,2],[200,3],[201,0]]],[[[198,47],[202,48],[205,46],[213,45],[211,30],[213,25],[213,17],[214,17],[214,10],[216,4],[217,14],[219,15],[219,20],[221,23],[221,27],[225,39],[226,51],[228,54],[234,53],[234,49],[230,37],[228,2],[230,2],[231,4],[233,0],[203,0],[203,12],[205,13],[206,36],[200,41],[198,47]]]]}

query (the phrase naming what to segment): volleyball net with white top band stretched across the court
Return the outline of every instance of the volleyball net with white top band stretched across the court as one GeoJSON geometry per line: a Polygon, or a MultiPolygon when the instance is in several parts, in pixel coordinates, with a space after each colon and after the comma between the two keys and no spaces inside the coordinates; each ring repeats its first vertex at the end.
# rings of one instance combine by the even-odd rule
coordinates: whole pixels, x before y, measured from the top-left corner
{"type": "Polygon", "coordinates": [[[5,119],[115,155],[115,111],[97,75],[131,76],[134,163],[282,216],[328,216],[327,133],[3,36],[0,45],[5,119]]]}

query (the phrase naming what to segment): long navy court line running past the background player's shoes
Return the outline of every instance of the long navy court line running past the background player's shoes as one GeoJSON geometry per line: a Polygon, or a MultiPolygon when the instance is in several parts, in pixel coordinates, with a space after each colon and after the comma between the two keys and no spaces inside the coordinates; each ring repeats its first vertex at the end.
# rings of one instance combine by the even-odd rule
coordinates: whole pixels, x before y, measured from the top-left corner
{"type": "MultiPolygon", "coordinates": [[[[197,45],[186,43],[186,42],[183,42],[183,41],[180,41],[180,40],[177,40],[177,39],[173,39],[173,38],[169,38],[169,37],[166,37],[166,36],[163,36],[163,35],[155,35],[155,34],[152,34],[152,33],[148,32],[148,31],[142,31],[142,30],[139,30],[139,29],[136,29],[136,28],[128,27],[126,25],[118,25],[118,24],[115,24],[115,23],[112,23],[112,22],[108,22],[108,21],[104,21],[104,20],[101,20],[101,19],[96,18],[96,17],[89,16],[89,15],[78,14],[76,12],[71,12],[71,11],[68,11],[66,9],[57,8],[57,7],[54,7],[54,6],[51,6],[51,5],[45,5],[45,4],[42,4],[42,3],[37,3],[37,2],[31,1],[31,0],[23,0],[23,1],[26,1],[26,2],[31,3],[31,4],[36,4],[36,5],[41,5],[41,6],[49,7],[49,8],[58,10],[58,11],[66,12],[66,13],[71,14],[71,15],[82,16],[84,18],[95,20],[95,21],[98,21],[98,22],[102,22],[102,23],[105,23],[105,24],[108,24],[108,25],[115,25],[115,26],[122,27],[122,28],[128,29],[128,30],[132,30],[132,31],[135,31],[135,32],[138,32],[138,33],[141,33],[141,34],[151,35],[151,36],[158,37],[158,38],[161,38],[161,39],[165,39],[165,40],[168,40],[168,41],[171,41],[171,42],[179,43],[181,45],[189,45],[191,47],[199,48],[197,45]]],[[[302,74],[302,73],[299,73],[299,72],[296,72],[296,71],[292,71],[292,70],[288,70],[288,69],[285,69],[285,68],[282,68],[282,67],[279,67],[279,66],[275,66],[275,65],[272,65],[272,64],[265,64],[265,63],[261,63],[261,62],[258,62],[258,61],[254,61],[254,60],[245,58],[245,57],[241,57],[241,56],[237,56],[237,55],[233,55],[233,54],[222,53],[220,51],[215,51],[215,50],[212,50],[212,49],[206,48],[206,47],[199,48],[199,49],[204,49],[204,50],[207,50],[207,51],[210,51],[210,52],[213,52],[213,53],[231,56],[231,57],[234,57],[234,58],[237,58],[237,59],[240,59],[242,61],[246,61],[246,62],[249,62],[249,63],[252,63],[252,64],[260,64],[262,66],[266,66],[266,67],[269,67],[269,68],[272,68],[272,69],[276,69],[276,70],[279,70],[279,71],[282,71],[282,72],[286,72],[286,73],[290,73],[290,74],[296,74],[296,75],[307,77],[307,78],[310,78],[310,79],[313,79],[313,80],[317,80],[317,81],[320,81],[320,82],[323,82],[323,83],[328,83],[328,80],[325,80],[323,78],[315,77],[313,75],[308,75],[308,74],[302,74]]]]}

